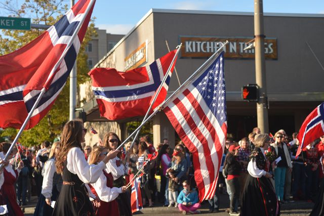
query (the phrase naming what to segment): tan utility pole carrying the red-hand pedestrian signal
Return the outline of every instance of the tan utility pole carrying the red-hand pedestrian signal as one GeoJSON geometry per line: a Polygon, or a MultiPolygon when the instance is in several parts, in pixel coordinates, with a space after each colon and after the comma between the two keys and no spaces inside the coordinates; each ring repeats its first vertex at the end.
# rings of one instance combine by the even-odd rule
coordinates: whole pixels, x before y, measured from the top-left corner
{"type": "Polygon", "coordinates": [[[255,76],[259,88],[257,101],[258,127],[261,133],[269,133],[268,97],[264,59],[263,0],[254,0],[255,76]]]}

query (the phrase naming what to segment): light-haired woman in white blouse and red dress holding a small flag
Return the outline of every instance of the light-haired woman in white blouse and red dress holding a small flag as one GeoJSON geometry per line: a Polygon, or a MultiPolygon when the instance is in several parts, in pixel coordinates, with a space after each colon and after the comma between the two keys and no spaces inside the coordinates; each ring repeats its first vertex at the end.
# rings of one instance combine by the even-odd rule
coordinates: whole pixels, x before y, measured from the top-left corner
{"type": "MultiPolygon", "coordinates": [[[[98,164],[108,150],[104,146],[95,146],[91,152],[90,164],[98,164]]],[[[100,207],[96,211],[97,216],[107,215],[119,216],[119,208],[116,198],[120,193],[126,192],[126,186],[116,188],[112,186],[113,177],[111,173],[107,173],[104,169],[96,183],[91,184],[91,191],[100,199],[100,207]]]]}

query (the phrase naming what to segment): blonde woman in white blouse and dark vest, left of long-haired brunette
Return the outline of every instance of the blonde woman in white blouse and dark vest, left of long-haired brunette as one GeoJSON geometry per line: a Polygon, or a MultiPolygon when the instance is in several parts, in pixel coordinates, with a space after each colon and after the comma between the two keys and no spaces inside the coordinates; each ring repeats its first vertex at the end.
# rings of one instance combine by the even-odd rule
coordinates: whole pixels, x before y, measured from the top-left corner
{"type": "Polygon", "coordinates": [[[45,162],[42,170],[44,177],[42,194],[38,198],[34,211],[35,216],[52,215],[53,213],[51,201],[56,201],[63,184],[62,176],[57,174],[55,167],[55,155],[57,155],[59,151],[60,142],[53,143],[49,160],[45,162]]]}

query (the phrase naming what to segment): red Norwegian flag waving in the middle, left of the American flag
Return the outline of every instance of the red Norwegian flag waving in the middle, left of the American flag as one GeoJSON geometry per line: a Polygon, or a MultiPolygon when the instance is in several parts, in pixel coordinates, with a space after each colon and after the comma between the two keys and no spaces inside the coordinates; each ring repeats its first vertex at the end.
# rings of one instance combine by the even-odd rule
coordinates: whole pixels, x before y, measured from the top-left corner
{"type": "MultiPolygon", "coordinates": [[[[114,68],[95,68],[88,74],[92,78],[92,90],[97,99],[100,115],[109,120],[144,116],[168,68],[176,50],[155,60],[146,67],[126,72],[114,68]]],[[[169,83],[176,61],[169,72],[152,110],[167,96],[169,83]]]]}

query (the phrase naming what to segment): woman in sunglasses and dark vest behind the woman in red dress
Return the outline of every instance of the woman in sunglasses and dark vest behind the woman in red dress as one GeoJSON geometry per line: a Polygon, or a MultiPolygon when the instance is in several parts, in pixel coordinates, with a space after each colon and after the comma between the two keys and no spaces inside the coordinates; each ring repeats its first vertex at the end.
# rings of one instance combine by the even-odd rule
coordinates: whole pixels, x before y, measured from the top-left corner
{"type": "MultiPolygon", "coordinates": [[[[105,134],[103,143],[108,152],[110,152],[116,149],[121,144],[121,141],[115,133],[109,132],[105,134]]],[[[124,176],[126,174],[126,170],[128,170],[130,160],[129,154],[130,153],[128,152],[126,156],[127,160],[122,161],[121,153],[119,153],[114,158],[112,158],[106,165],[105,170],[108,174],[112,175],[114,180],[114,187],[120,188],[126,185],[126,180],[124,179],[124,176]]],[[[132,215],[131,194],[129,193],[129,191],[127,191],[126,193],[119,194],[119,196],[117,197],[117,202],[119,206],[119,214],[121,216],[132,215]]]]}

